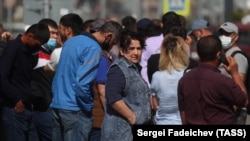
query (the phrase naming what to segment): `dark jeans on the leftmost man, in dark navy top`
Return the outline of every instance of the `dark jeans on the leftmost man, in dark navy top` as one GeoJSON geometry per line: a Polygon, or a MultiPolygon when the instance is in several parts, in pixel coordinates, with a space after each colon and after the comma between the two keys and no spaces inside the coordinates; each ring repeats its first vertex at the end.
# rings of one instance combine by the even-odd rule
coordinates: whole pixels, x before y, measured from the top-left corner
{"type": "Polygon", "coordinates": [[[2,112],[6,141],[38,141],[31,111],[17,113],[14,108],[3,107],[2,112]]]}

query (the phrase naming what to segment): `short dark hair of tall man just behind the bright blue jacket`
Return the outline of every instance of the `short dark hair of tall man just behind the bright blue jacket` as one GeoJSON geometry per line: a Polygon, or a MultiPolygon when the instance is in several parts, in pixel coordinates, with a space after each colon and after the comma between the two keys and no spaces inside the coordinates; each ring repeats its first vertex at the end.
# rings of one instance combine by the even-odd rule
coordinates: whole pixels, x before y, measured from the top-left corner
{"type": "Polygon", "coordinates": [[[78,14],[66,14],[61,17],[59,23],[65,27],[71,27],[73,30],[73,35],[79,35],[83,31],[83,20],[78,14]]]}

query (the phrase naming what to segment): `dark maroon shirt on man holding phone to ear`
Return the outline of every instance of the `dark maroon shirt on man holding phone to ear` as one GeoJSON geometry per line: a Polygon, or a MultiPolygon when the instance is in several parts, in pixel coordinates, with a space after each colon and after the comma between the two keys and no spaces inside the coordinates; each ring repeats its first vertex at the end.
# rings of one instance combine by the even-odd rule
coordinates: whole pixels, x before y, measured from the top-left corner
{"type": "Polygon", "coordinates": [[[179,81],[179,110],[187,124],[236,124],[233,105],[243,107],[247,96],[234,81],[207,64],[187,72],[179,81]]]}

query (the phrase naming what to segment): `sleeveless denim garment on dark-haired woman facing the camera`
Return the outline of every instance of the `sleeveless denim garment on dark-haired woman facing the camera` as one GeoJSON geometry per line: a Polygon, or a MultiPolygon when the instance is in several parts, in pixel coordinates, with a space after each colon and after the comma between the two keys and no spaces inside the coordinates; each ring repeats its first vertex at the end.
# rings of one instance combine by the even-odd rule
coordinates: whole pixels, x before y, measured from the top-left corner
{"type": "MultiPolygon", "coordinates": [[[[147,83],[141,77],[138,68],[121,57],[112,65],[117,65],[125,76],[126,86],[123,90],[123,100],[135,113],[135,124],[148,124],[151,118],[150,90],[147,83]]],[[[112,66],[111,65],[111,66],[112,66]]],[[[116,113],[106,113],[102,126],[102,141],[132,141],[132,128],[129,122],[116,113]]]]}

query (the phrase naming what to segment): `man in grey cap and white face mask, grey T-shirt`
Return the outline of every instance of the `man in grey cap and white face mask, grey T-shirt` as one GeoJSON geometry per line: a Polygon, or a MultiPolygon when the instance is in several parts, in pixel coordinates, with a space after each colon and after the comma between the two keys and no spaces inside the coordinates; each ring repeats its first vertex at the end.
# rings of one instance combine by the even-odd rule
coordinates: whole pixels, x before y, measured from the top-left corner
{"type": "MultiPolygon", "coordinates": [[[[231,56],[233,52],[235,51],[239,51],[241,50],[238,46],[237,46],[237,41],[239,39],[239,34],[238,34],[238,27],[231,22],[225,22],[223,24],[221,24],[221,26],[218,29],[218,33],[219,33],[219,38],[221,40],[222,43],[222,47],[224,49],[225,55],[226,56],[231,56]]],[[[237,53],[233,56],[233,58],[235,59],[235,61],[238,64],[238,71],[240,73],[241,79],[243,81],[245,81],[246,79],[246,73],[248,70],[248,62],[247,62],[247,58],[240,54],[237,53]]],[[[223,68],[223,65],[221,64],[219,66],[219,69],[221,70],[221,73],[231,77],[230,74],[228,74],[226,72],[226,70],[223,68]]],[[[242,112],[244,112],[244,109],[241,110],[242,112]]],[[[246,123],[246,113],[242,113],[239,112],[238,119],[237,119],[237,124],[245,124],[246,123]]]]}

